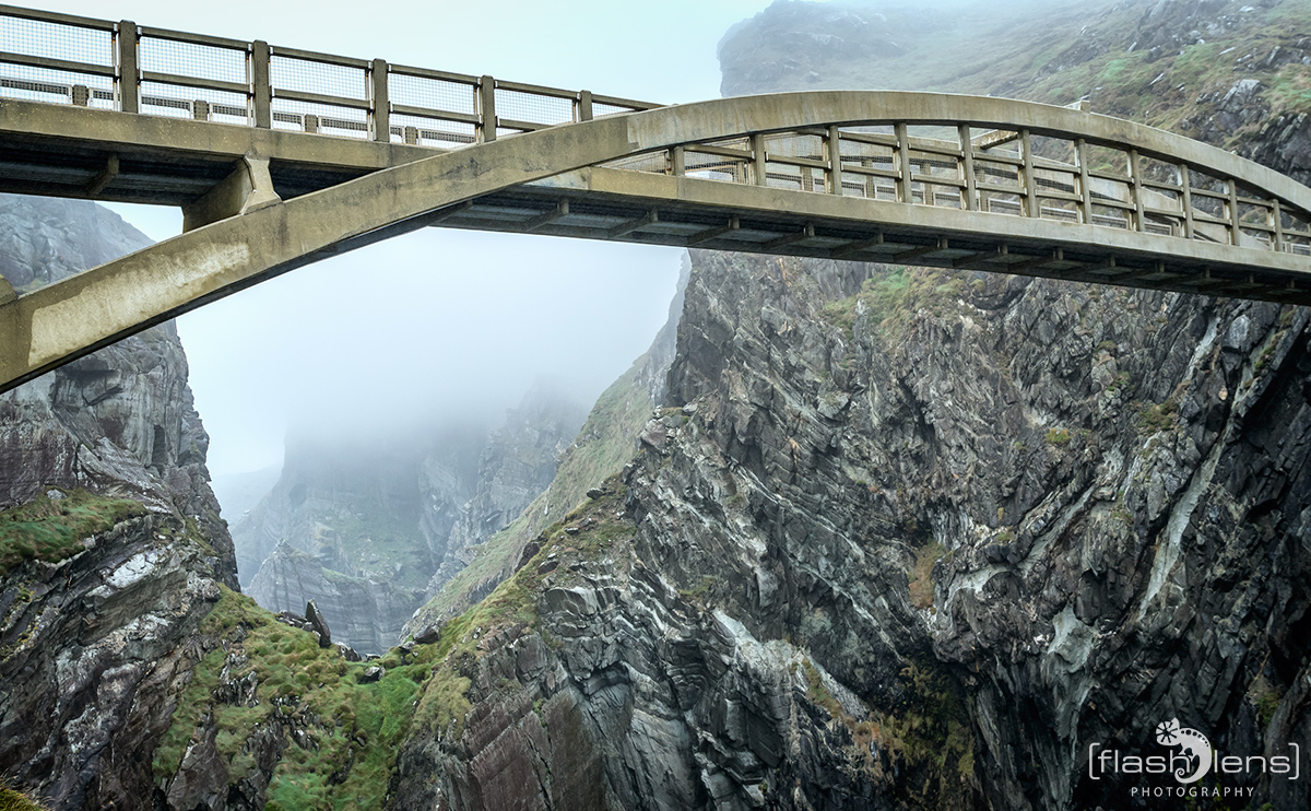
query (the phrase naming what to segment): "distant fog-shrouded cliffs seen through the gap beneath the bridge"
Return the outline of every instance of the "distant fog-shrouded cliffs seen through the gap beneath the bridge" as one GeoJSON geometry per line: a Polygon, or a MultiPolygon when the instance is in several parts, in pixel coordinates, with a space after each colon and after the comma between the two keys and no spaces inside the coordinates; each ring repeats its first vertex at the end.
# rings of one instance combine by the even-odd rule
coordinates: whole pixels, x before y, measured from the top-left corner
{"type": "Polygon", "coordinates": [[[384,442],[288,441],[282,476],[233,529],[248,593],[271,612],[317,600],[366,654],[395,644],[423,600],[555,475],[585,417],[551,386],[505,424],[448,424],[384,442]]]}

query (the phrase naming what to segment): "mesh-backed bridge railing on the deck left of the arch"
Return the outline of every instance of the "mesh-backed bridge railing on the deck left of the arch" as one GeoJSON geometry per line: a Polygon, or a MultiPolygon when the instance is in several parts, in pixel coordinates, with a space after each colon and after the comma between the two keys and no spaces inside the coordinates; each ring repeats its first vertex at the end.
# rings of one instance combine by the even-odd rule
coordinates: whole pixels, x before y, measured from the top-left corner
{"type": "Polygon", "coordinates": [[[0,5],[0,98],[452,148],[659,105],[0,5]]]}

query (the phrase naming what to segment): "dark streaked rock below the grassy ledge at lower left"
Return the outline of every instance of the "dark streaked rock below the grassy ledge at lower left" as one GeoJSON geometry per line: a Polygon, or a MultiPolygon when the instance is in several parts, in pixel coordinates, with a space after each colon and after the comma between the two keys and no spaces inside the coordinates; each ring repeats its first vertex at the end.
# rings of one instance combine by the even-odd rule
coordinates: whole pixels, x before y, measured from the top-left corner
{"type": "Polygon", "coordinates": [[[172,514],[85,546],[0,579],[0,772],[51,808],[139,808],[197,626],[235,572],[172,514]]]}

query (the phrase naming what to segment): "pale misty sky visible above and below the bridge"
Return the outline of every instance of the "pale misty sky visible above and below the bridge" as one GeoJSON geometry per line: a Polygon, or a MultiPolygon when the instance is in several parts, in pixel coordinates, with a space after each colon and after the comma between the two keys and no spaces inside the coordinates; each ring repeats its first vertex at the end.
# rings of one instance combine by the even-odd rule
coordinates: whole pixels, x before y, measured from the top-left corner
{"type": "MultiPolygon", "coordinates": [[[[720,37],[768,3],[24,4],[671,104],[718,96],[720,37]]],[[[156,240],[181,231],[176,209],[111,207],[156,240]]],[[[595,396],[665,323],[680,253],[425,228],[190,312],[178,332],[211,437],[210,470],[281,463],[288,428],[499,415],[536,375],[595,396]]]]}

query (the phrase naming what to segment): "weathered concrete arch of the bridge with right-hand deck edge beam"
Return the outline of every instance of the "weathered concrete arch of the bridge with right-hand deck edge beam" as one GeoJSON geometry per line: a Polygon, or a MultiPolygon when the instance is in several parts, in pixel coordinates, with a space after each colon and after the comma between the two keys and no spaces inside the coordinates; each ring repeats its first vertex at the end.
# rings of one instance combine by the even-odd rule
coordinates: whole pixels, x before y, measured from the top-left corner
{"type": "MultiPolygon", "coordinates": [[[[1232,178],[1302,215],[1311,211],[1311,189],[1270,169],[1171,133],[1066,108],[970,96],[857,91],[724,98],[566,123],[423,157],[248,210],[12,298],[0,303],[4,348],[0,390],[294,268],[430,224],[443,210],[484,196],[581,169],[597,168],[604,175],[607,163],[683,144],[886,123],[992,126],[1023,130],[1025,136],[1051,135],[1135,150],[1232,178]]],[[[926,217],[924,210],[931,206],[640,175],[625,173],[633,176],[635,198],[699,201],[697,205],[711,210],[750,211],[788,210],[794,205],[794,197],[789,196],[805,194],[814,207],[812,219],[821,224],[889,222],[975,239],[1000,235],[1017,244],[1037,245],[1040,251],[1050,245],[1088,245],[1147,259],[1181,256],[1192,266],[1249,265],[1274,273],[1286,280],[1281,283],[1291,285],[1290,301],[1301,301],[1304,290],[1311,289],[1303,281],[1311,280],[1311,260],[1291,253],[975,210],[936,209],[933,222],[922,226],[915,218],[926,217]],[[714,189],[708,190],[705,184],[714,189]]],[[[1274,210],[1278,213],[1278,206],[1274,210]]],[[[814,227],[808,226],[806,234],[813,236],[814,227]]],[[[770,245],[773,245],[771,252],[788,252],[788,243],[780,240],[754,249],[770,245]]],[[[1023,264],[995,269],[1023,273],[1023,264]]],[[[1045,274],[1041,262],[1028,268],[1045,274]]]]}

